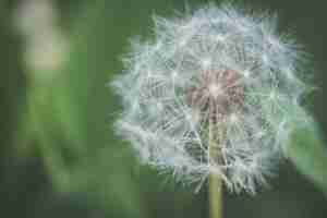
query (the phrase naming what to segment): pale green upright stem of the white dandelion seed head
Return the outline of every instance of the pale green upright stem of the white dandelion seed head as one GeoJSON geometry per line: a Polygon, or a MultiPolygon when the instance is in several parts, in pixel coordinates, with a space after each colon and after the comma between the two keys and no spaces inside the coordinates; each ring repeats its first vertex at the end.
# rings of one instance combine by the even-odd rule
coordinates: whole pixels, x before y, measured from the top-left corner
{"type": "MultiPolygon", "coordinates": [[[[209,162],[217,158],[215,138],[213,135],[213,122],[209,123],[209,162]]],[[[209,213],[210,218],[222,218],[222,185],[218,174],[209,175],[209,213]]]]}

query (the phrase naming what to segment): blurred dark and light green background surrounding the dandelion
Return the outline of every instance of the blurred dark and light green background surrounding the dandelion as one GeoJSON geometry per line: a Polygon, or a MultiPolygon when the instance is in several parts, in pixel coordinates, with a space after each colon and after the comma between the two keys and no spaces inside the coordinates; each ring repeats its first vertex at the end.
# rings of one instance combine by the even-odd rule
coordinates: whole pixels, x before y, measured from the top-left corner
{"type": "MultiPolygon", "coordinates": [[[[206,185],[194,194],[193,185],[140,166],[114,136],[120,107],[107,87],[130,38],[150,37],[152,15],[173,15],[185,2],[193,9],[208,1],[0,1],[0,217],[208,217],[206,185]]],[[[305,45],[318,87],[305,102],[326,133],[324,2],[243,4],[277,12],[281,31],[305,45]]],[[[225,217],[327,217],[327,195],[300,172],[284,160],[270,189],[226,192],[225,217]]]]}

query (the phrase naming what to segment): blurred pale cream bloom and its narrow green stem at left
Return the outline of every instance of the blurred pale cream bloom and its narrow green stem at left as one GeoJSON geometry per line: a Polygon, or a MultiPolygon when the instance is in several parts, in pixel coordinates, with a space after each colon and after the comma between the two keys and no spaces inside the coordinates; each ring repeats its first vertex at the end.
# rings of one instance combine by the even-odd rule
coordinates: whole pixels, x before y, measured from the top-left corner
{"type": "MultiPolygon", "coordinates": [[[[23,61],[28,83],[27,113],[23,118],[21,130],[21,136],[24,137],[21,137],[22,142],[19,145],[24,145],[28,141],[39,141],[41,155],[47,170],[50,170],[50,175],[58,174],[63,169],[59,168],[59,164],[51,158],[56,149],[52,154],[49,153],[50,156],[45,153],[51,150],[51,142],[47,138],[49,137],[48,125],[57,122],[51,120],[56,116],[50,113],[55,112],[53,105],[50,102],[51,93],[56,92],[58,85],[56,81],[62,76],[61,68],[68,55],[68,39],[63,36],[58,20],[52,0],[21,1],[13,16],[14,26],[24,44],[23,61]]],[[[24,149],[20,147],[19,152],[24,149]]],[[[63,172],[60,174],[60,180],[68,180],[68,175],[63,172]]]]}

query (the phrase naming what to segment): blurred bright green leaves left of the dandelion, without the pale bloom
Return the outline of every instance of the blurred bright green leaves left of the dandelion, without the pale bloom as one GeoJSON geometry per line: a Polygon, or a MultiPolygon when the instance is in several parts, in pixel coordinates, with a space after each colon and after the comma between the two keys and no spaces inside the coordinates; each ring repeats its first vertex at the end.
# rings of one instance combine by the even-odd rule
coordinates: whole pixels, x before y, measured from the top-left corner
{"type": "Polygon", "coordinates": [[[105,27],[107,14],[95,9],[87,9],[84,25],[73,31],[70,58],[62,68],[39,72],[51,74],[49,81],[32,77],[31,117],[25,126],[34,134],[26,135],[38,140],[58,191],[86,192],[89,197],[109,203],[104,206],[120,208],[116,209],[121,211],[118,217],[142,217],[135,184],[124,173],[131,157],[117,147],[110,123],[106,123],[108,111],[114,108],[105,86],[110,32],[105,27]]]}

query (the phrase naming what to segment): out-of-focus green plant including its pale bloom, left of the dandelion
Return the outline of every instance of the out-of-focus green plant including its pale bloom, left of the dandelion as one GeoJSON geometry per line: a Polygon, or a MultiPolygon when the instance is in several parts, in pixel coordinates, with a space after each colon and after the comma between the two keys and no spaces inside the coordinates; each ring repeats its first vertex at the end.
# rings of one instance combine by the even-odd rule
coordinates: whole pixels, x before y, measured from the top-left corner
{"type": "Polygon", "coordinates": [[[114,106],[107,100],[111,33],[104,1],[87,3],[83,24],[70,33],[58,25],[52,3],[23,1],[15,15],[28,69],[22,144],[38,145],[55,190],[86,193],[118,217],[144,217],[129,173],[133,159],[107,134],[114,106]]]}

